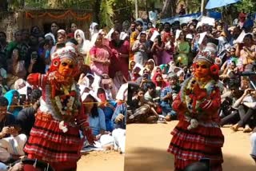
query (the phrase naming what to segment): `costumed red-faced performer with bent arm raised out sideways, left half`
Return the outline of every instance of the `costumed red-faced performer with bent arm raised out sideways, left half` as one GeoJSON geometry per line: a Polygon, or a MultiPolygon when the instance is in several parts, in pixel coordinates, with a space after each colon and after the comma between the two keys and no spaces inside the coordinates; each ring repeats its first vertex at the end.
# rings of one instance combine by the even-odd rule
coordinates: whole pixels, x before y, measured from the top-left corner
{"type": "Polygon", "coordinates": [[[27,78],[30,85],[42,89],[42,98],[24,150],[28,158],[46,161],[55,170],[76,170],[84,138],[90,144],[94,141],[74,81],[79,70],[76,50],[69,42],[52,58],[47,74],[27,78]]]}

